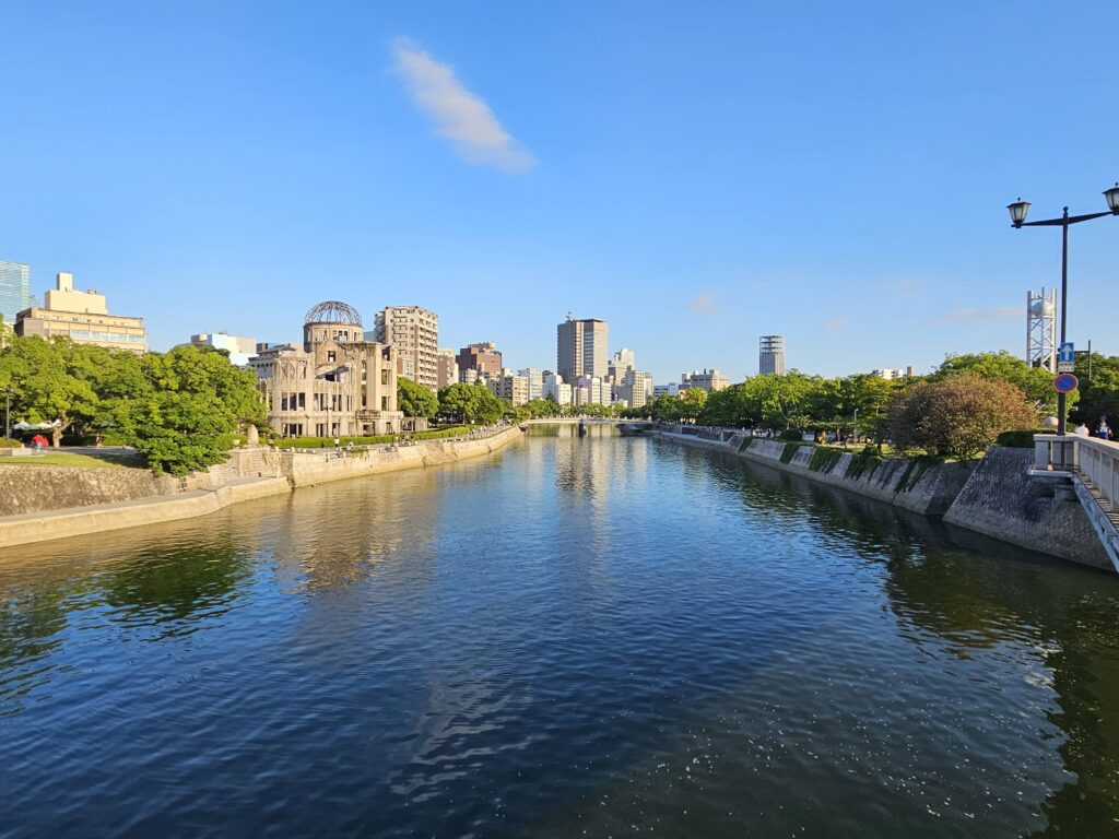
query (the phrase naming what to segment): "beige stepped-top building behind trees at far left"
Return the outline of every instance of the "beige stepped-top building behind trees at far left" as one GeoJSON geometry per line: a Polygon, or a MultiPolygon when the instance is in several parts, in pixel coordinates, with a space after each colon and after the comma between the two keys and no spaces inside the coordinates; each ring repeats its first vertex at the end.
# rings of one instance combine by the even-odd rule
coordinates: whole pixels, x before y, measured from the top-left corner
{"type": "Polygon", "coordinates": [[[68,338],[74,343],[92,343],[107,349],[143,353],[148,331],[143,318],[110,314],[104,294],[74,289],[74,275],[63,271],[44,305],[32,305],[16,315],[16,334],[68,338]]]}

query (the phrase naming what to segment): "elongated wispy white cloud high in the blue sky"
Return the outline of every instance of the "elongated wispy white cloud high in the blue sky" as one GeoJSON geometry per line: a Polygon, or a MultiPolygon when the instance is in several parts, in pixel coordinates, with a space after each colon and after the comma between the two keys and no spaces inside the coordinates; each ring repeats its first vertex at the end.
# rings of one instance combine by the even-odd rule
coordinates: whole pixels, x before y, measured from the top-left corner
{"type": "Polygon", "coordinates": [[[501,126],[486,101],[462,85],[454,67],[435,60],[406,38],[397,39],[393,51],[396,72],[413,102],[432,121],[435,134],[449,140],[459,157],[511,172],[536,166],[536,159],[501,126]]]}

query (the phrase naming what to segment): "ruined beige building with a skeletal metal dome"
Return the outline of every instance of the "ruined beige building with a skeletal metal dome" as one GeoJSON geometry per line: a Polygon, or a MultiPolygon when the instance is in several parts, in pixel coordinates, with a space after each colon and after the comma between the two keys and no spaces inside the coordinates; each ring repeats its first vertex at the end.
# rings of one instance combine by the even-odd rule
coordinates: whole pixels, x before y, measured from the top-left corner
{"type": "Polygon", "coordinates": [[[269,424],[285,437],[345,437],[404,430],[396,407],[396,353],[366,341],[357,311],[319,303],[307,313],[302,348],[269,347],[250,360],[269,424]]]}

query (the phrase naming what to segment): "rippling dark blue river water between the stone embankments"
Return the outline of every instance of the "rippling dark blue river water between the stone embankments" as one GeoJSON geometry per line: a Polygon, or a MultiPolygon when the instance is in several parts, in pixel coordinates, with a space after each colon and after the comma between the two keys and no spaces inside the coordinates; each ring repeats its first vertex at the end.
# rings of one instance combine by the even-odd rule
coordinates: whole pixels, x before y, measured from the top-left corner
{"type": "Polygon", "coordinates": [[[1119,581],[573,432],[0,550],[0,835],[1119,835],[1119,581]]]}

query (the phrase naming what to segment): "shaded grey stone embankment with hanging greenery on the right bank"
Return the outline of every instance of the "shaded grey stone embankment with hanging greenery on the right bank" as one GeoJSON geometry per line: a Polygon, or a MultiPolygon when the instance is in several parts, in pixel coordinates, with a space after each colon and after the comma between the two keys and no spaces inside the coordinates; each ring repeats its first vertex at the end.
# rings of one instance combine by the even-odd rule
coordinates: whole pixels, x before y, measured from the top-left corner
{"type": "Polygon", "coordinates": [[[1033,452],[991,446],[981,460],[868,458],[751,437],[731,430],[669,426],[665,440],[697,445],[875,498],[955,527],[1070,562],[1112,569],[1074,496],[1029,479],[1033,452]]]}

